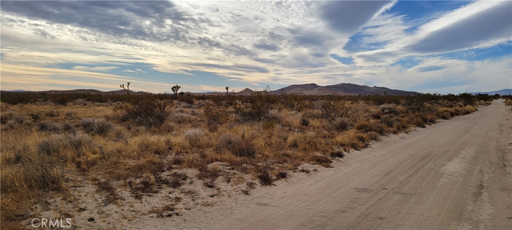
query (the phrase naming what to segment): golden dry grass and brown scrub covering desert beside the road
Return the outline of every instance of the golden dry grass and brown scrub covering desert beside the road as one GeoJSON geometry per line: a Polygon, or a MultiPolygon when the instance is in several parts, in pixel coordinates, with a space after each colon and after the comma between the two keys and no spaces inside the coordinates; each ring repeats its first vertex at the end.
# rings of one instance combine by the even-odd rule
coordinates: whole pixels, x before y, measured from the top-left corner
{"type": "MultiPolygon", "coordinates": [[[[261,95],[227,99],[151,102],[144,98],[159,109],[155,114],[138,111],[148,106],[136,102],[77,99],[64,106],[2,102],[2,228],[27,218],[30,207],[48,193],[65,196],[70,186],[66,178],[76,175],[98,176],[94,184],[107,203],[122,199],[118,186],[123,181],[139,199],[169,186],[195,200],[198,192],[182,187],[191,175],[162,176],[162,172],[197,169],[194,177],[215,188],[221,183],[218,177],[234,183],[224,172],[228,167],[270,185],[304,162],[330,166],[334,157],[365,148],[381,135],[477,110],[465,102],[442,99],[403,98],[393,103],[285,96],[274,100],[261,95]],[[226,166],[212,166],[214,162],[226,166]]],[[[242,192],[249,194],[255,184],[249,181],[242,192]]]]}

